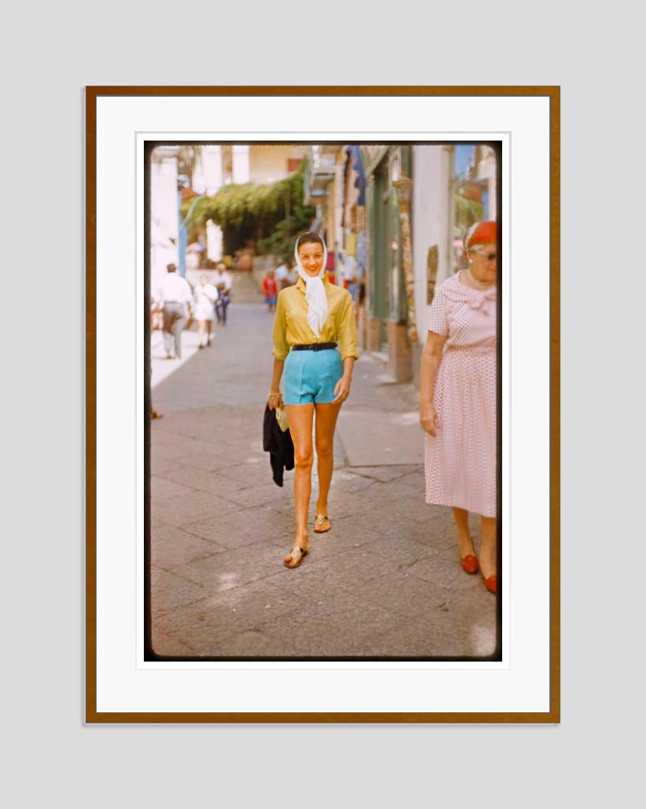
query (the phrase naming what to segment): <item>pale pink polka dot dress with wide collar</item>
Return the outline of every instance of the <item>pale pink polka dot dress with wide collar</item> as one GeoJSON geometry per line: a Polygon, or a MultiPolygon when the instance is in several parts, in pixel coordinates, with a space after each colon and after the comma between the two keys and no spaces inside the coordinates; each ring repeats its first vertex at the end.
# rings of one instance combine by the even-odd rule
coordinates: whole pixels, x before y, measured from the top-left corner
{"type": "Polygon", "coordinates": [[[460,274],[437,288],[429,331],[446,337],[426,434],[426,502],[496,516],[496,285],[473,290],[460,274]]]}

